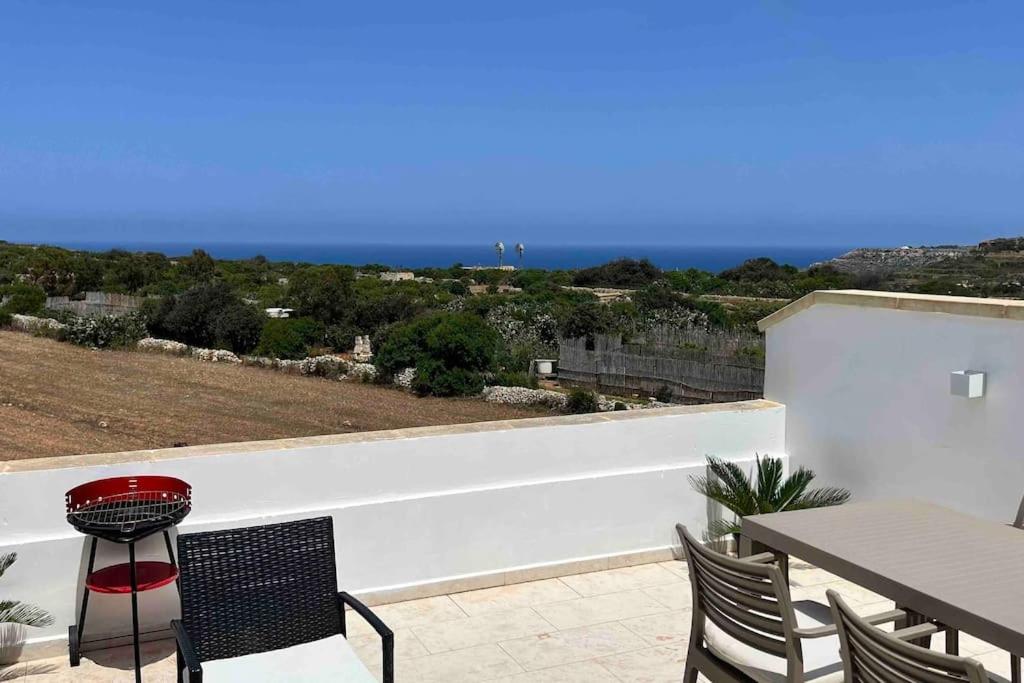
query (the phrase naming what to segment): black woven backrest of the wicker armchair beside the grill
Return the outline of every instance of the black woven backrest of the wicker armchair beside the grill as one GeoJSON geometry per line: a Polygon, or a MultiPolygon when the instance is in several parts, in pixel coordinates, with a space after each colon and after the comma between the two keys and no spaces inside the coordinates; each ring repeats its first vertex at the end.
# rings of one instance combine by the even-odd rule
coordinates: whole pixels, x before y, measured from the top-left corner
{"type": "Polygon", "coordinates": [[[178,537],[181,621],[201,661],[341,633],[330,517],[178,537]]]}

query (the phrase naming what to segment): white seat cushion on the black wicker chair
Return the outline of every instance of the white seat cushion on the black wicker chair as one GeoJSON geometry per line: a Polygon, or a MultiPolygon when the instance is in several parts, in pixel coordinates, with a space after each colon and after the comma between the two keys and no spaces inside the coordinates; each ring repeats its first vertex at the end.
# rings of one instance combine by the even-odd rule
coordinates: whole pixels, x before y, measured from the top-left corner
{"type": "Polygon", "coordinates": [[[369,683],[377,679],[355,655],[345,637],[339,635],[269,652],[204,661],[203,680],[210,683],[369,683]]]}

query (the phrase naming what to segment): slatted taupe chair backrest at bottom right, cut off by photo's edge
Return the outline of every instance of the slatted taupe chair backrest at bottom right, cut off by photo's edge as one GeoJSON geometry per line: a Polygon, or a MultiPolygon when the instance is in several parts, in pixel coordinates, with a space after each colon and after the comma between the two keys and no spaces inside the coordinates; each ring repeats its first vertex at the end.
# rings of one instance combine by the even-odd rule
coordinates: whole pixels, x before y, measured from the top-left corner
{"type": "Polygon", "coordinates": [[[827,595],[847,683],[988,683],[974,659],[904,642],[860,618],[835,591],[827,595]]]}

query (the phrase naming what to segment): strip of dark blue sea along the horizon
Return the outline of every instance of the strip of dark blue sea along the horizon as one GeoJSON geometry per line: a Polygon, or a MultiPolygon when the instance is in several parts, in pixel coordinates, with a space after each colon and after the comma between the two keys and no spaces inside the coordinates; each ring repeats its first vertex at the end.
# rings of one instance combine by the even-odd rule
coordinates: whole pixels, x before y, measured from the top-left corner
{"type": "MultiPolygon", "coordinates": [[[[153,251],[182,256],[204,249],[214,258],[241,259],[262,254],[271,261],[380,263],[390,267],[422,268],[463,265],[496,265],[493,245],[302,245],[217,243],[63,243],[73,249],[153,251]]],[[[657,247],[657,246],[550,246],[525,245],[525,268],[569,269],[606,263],[612,259],[647,258],[666,270],[699,268],[719,272],[743,261],[767,256],[777,263],[807,267],[835,258],[852,247],[657,247]]],[[[518,265],[514,244],[506,244],[505,263],[518,265]]]]}

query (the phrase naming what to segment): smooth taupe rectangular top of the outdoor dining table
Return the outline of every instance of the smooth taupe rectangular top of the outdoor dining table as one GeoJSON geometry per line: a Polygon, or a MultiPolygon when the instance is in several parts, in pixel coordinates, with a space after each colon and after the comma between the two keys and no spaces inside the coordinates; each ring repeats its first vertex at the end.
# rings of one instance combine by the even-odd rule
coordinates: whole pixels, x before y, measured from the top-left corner
{"type": "Polygon", "coordinates": [[[1024,654],[1024,530],[900,500],[752,515],[742,533],[1024,654]]]}

